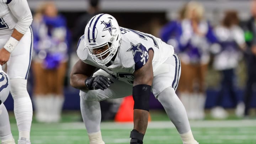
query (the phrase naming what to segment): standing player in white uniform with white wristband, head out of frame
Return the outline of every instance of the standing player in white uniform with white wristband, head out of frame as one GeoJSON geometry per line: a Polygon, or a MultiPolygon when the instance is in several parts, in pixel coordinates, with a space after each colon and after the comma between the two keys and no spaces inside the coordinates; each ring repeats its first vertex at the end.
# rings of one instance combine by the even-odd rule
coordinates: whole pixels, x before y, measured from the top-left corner
{"type": "Polygon", "coordinates": [[[30,144],[32,103],[27,92],[33,35],[27,0],[0,0],[0,64],[7,63],[19,144],[30,144]]]}

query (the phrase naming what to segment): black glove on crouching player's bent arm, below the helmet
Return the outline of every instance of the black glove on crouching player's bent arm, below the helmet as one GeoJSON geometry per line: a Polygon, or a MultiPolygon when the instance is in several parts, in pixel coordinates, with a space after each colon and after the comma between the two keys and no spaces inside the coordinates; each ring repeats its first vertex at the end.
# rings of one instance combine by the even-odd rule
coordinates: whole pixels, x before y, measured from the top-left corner
{"type": "Polygon", "coordinates": [[[89,77],[85,80],[85,85],[89,90],[105,90],[110,87],[110,84],[114,82],[111,79],[108,79],[106,76],[98,75],[95,77],[89,77]]]}

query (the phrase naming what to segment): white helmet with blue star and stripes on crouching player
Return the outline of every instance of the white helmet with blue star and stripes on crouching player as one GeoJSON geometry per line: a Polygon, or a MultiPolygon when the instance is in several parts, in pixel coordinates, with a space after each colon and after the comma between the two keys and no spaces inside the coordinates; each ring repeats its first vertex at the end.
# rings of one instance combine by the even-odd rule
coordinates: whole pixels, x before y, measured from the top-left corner
{"type": "Polygon", "coordinates": [[[121,42],[121,31],[116,18],[98,14],[85,27],[85,47],[92,59],[105,65],[114,57],[121,42]]]}

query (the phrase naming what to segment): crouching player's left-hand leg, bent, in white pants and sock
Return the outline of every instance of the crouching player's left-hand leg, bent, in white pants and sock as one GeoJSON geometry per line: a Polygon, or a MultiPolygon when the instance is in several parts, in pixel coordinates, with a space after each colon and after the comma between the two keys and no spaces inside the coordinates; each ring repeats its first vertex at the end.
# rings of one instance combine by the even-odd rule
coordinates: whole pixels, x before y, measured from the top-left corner
{"type": "Polygon", "coordinates": [[[94,76],[103,75],[114,81],[106,90],[80,91],[80,107],[82,118],[89,136],[90,144],[104,144],[101,138],[100,101],[108,98],[121,98],[132,94],[132,85],[118,81],[103,70],[98,70],[94,76]]]}

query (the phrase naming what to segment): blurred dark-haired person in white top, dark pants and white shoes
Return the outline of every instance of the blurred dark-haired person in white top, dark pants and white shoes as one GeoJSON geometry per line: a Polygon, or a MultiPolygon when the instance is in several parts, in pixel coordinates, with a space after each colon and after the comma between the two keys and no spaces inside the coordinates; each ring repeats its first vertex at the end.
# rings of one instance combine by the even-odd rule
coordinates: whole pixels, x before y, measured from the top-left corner
{"type": "Polygon", "coordinates": [[[222,25],[215,28],[220,48],[215,49],[213,67],[222,73],[222,82],[217,102],[211,110],[214,118],[225,118],[228,113],[222,107],[225,91],[228,92],[232,102],[236,105],[236,115],[241,117],[244,113],[244,103],[238,100],[235,92],[235,68],[241,59],[241,50],[245,50],[244,32],[238,26],[239,18],[236,11],[226,11],[222,25]]]}

